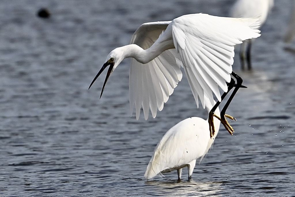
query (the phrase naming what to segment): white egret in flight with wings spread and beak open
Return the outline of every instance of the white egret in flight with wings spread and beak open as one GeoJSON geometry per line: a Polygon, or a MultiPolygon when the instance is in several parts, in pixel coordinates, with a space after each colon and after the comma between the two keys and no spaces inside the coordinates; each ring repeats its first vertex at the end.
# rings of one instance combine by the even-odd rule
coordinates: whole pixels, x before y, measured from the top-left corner
{"type": "Polygon", "coordinates": [[[124,58],[132,57],[130,110],[132,115],[135,106],[136,119],[139,118],[141,106],[145,119],[148,119],[149,110],[155,118],[157,109],[163,109],[164,102],[167,102],[182,78],[181,66],[197,107],[198,97],[203,108],[212,106],[213,93],[221,101],[218,86],[227,92],[226,82],[231,80],[234,45],[260,36],[257,20],[188,14],[172,21],[144,23],[133,34],[130,45],[109,53],[89,88],[109,66],[101,89],[102,95],[114,69],[124,58]]]}

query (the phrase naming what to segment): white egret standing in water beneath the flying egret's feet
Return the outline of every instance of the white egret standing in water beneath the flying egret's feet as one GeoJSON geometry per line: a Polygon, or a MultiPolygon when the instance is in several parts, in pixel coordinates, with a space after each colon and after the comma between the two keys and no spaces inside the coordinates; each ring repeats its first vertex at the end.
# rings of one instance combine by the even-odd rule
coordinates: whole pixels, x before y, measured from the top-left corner
{"type": "MultiPolygon", "coordinates": [[[[241,83],[242,81],[237,78],[237,85],[234,91],[239,89],[241,83]]],[[[234,85],[235,81],[232,79],[228,86],[228,92],[234,85]]],[[[228,92],[223,93],[222,100],[228,92]]],[[[226,110],[231,99],[227,101],[222,111],[226,110]]],[[[205,96],[205,100],[209,100],[209,98],[205,96]]],[[[219,104],[220,102],[217,102],[214,106],[209,106],[210,104],[207,106],[209,114],[215,111],[215,116],[212,117],[214,119],[219,119],[219,104]],[[211,108],[212,110],[210,111],[211,108]]],[[[151,179],[160,172],[165,173],[177,170],[178,180],[180,180],[182,168],[187,167],[189,179],[191,179],[196,160],[200,158],[201,162],[212,146],[219,130],[220,123],[216,120],[211,125],[215,128],[215,133],[211,138],[209,137],[211,131],[211,126],[208,124],[209,118],[207,120],[199,117],[187,118],[169,129],[155,148],[145,171],[145,178],[151,179]]]]}

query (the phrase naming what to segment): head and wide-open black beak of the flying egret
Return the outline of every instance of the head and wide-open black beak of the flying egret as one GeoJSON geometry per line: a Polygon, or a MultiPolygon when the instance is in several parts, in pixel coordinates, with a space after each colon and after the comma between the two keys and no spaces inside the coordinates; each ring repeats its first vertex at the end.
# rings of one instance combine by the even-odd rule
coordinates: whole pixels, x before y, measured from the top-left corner
{"type": "Polygon", "coordinates": [[[105,61],[104,65],[101,67],[100,71],[94,77],[93,81],[91,82],[91,84],[89,86],[89,88],[90,88],[91,85],[94,83],[94,81],[97,79],[97,77],[102,73],[102,71],[104,71],[104,69],[106,69],[107,66],[110,66],[109,69],[108,69],[108,72],[106,73],[106,79],[104,80],[104,85],[103,85],[103,87],[101,89],[100,97],[102,95],[102,92],[104,91],[104,86],[106,85],[106,82],[108,81],[109,76],[111,76],[113,71],[117,68],[117,66],[125,58],[124,50],[122,50],[122,49],[123,49],[122,47],[115,48],[113,51],[111,51],[111,53],[109,53],[109,55],[106,58],[106,61],[105,61]]]}

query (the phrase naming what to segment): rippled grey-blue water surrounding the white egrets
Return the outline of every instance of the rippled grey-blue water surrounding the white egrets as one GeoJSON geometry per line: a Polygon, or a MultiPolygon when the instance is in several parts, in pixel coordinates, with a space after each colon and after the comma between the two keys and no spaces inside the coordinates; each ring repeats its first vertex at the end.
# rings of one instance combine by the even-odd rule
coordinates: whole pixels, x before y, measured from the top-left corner
{"type": "Polygon", "coordinates": [[[106,55],[143,22],[227,16],[233,2],[1,1],[0,195],[295,196],[295,56],[282,43],[291,1],[275,1],[253,45],[254,71],[241,72],[235,57],[234,71],[248,86],[227,111],[238,119],[235,135],[222,127],[193,181],[176,181],[176,172],[143,177],[169,128],[207,118],[185,78],[148,121],[129,117],[128,60],[100,100],[104,76],[88,90],[106,55]],[[36,17],[43,6],[50,19],[36,17]]]}

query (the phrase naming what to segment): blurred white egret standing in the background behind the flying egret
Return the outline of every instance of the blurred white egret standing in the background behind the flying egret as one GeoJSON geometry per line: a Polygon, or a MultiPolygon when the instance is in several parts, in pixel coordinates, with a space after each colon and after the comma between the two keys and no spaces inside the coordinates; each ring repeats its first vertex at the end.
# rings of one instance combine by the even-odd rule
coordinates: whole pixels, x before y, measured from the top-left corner
{"type": "MultiPolygon", "coordinates": [[[[230,17],[258,17],[261,25],[266,21],[268,12],[273,7],[273,0],[237,0],[230,10],[230,17]]],[[[251,66],[251,45],[253,40],[246,40],[240,49],[242,69],[245,69],[246,61],[248,70],[251,66]]]]}

